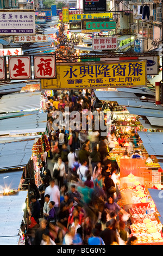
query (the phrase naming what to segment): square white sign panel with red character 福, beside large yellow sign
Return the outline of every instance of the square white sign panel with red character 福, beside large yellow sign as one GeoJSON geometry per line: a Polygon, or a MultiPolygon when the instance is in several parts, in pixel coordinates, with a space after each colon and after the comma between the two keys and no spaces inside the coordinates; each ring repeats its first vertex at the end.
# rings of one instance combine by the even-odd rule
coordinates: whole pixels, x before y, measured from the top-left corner
{"type": "Polygon", "coordinates": [[[56,78],[55,56],[34,57],[35,78],[56,78]]]}

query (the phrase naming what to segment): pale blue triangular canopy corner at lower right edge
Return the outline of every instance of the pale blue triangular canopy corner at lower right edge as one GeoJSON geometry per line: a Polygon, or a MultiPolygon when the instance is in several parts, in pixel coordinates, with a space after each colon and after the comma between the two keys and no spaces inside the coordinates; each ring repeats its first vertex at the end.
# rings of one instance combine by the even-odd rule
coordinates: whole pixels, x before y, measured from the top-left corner
{"type": "Polygon", "coordinates": [[[153,188],[148,188],[149,194],[151,195],[153,202],[156,206],[160,214],[160,221],[163,224],[163,191],[162,190],[154,190],[153,188]]]}

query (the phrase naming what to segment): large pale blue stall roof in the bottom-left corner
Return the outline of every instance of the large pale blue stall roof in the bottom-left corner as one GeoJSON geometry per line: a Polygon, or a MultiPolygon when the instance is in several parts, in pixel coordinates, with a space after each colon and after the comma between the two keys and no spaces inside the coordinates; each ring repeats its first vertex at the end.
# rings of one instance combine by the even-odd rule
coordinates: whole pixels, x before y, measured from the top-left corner
{"type": "Polygon", "coordinates": [[[4,196],[0,203],[0,245],[18,245],[18,229],[23,220],[23,204],[28,191],[13,196],[4,196]]]}

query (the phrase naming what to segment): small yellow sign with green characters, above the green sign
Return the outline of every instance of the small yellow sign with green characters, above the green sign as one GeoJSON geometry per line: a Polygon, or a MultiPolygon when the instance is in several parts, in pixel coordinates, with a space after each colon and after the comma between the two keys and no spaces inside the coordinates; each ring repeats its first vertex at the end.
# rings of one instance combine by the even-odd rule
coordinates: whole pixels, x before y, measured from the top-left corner
{"type": "Polygon", "coordinates": [[[69,22],[79,22],[84,19],[112,19],[112,13],[90,13],[90,14],[70,14],[69,22]]]}

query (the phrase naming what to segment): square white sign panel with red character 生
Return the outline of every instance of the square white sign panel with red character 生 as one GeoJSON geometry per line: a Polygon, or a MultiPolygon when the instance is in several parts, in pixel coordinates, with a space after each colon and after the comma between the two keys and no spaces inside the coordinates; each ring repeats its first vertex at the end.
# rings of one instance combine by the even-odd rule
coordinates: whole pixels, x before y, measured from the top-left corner
{"type": "Polygon", "coordinates": [[[9,57],[9,78],[10,80],[32,78],[30,56],[9,57]]]}

